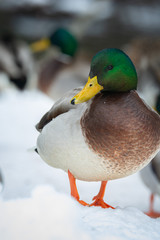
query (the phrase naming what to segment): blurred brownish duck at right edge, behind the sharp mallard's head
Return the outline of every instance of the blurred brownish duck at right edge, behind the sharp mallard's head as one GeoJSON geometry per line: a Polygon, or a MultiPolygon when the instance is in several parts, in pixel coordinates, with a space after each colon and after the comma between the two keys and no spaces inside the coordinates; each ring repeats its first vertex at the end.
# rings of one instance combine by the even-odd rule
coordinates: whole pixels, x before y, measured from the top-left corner
{"type": "Polygon", "coordinates": [[[160,39],[137,38],[125,48],[136,66],[138,92],[151,106],[160,93],[160,39]]]}

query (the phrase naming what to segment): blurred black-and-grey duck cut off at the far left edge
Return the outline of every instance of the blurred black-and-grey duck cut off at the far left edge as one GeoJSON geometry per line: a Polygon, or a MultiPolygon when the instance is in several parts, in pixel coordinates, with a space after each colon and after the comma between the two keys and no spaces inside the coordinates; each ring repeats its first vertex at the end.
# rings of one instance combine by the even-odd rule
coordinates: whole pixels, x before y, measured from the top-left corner
{"type": "Polygon", "coordinates": [[[0,39],[0,90],[36,86],[34,61],[28,45],[6,34],[0,39]]]}

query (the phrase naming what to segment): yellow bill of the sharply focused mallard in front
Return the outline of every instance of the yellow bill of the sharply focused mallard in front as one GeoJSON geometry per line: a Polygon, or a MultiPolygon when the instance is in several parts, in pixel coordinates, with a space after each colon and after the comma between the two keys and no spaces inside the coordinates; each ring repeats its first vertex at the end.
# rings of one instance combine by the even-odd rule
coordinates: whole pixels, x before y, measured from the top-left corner
{"type": "Polygon", "coordinates": [[[93,78],[88,77],[88,82],[86,83],[82,91],[72,98],[71,104],[74,105],[74,104],[86,102],[92,97],[94,97],[102,89],[103,89],[103,86],[98,84],[97,76],[93,78]]]}

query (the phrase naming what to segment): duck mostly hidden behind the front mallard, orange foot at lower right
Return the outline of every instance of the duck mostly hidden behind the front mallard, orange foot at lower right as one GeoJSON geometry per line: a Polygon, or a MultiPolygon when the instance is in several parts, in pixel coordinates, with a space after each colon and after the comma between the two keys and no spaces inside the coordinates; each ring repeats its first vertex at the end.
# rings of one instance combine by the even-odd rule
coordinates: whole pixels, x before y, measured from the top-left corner
{"type": "MultiPolygon", "coordinates": [[[[160,114],[160,93],[157,97],[156,110],[160,114]]],[[[160,152],[140,171],[140,175],[144,184],[151,190],[150,209],[146,214],[153,218],[160,217],[160,212],[153,210],[154,196],[156,194],[160,196],[160,152]]]]}

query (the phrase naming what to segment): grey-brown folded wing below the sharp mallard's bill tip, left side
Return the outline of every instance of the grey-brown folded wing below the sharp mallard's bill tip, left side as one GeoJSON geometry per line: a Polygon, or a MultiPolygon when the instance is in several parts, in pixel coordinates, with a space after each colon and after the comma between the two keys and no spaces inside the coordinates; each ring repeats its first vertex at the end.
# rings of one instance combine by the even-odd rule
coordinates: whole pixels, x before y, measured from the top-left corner
{"type": "Polygon", "coordinates": [[[77,108],[77,105],[70,103],[71,99],[82,90],[83,87],[79,87],[67,92],[62,98],[60,98],[52,108],[41,118],[36,125],[36,129],[40,132],[45,125],[47,125],[53,118],[56,118],[60,114],[68,112],[70,109],[77,108]]]}

